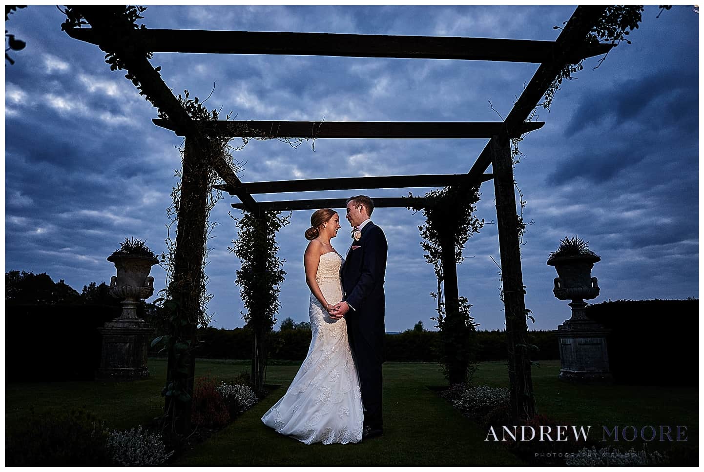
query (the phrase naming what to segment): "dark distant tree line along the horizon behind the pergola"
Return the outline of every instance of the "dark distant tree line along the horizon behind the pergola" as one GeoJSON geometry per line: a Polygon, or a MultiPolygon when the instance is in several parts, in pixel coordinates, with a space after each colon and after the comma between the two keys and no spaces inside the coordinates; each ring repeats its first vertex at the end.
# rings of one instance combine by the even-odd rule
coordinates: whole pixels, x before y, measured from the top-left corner
{"type": "MultiPolygon", "coordinates": [[[[51,276],[42,272],[34,274],[25,271],[5,273],[6,306],[20,305],[92,305],[92,310],[103,310],[101,319],[109,321],[120,312],[120,299],[109,294],[109,286],[90,282],[79,293],[63,279],[54,282],[51,276]]],[[[96,313],[97,315],[97,313],[96,313]]],[[[162,307],[153,303],[141,302],[139,317],[151,324],[156,332],[166,322],[162,307]]],[[[66,326],[69,329],[68,326],[66,326]]],[[[75,326],[70,329],[75,329],[75,326]]],[[[559,359],[558,340],[555,331],[531,331],[531,344],[534,345],[533,359],[559,359]]],[[[212,326],[198,330],[196,357],[208,359],[250,359],[251,330],[246,328],[216,329],[212,326]]],[[[278,331],[269,334],[269,356],[271,359],[301,361],[310,346],[310,323],[296,322],[291,318],[282,320],[278,331]]],[[[505,331],[477,331],[477,361],[507,359],[505,331]]],[[[151,350],[158,355],[159,348],[151,350]]],[[[389,362],[439,362],[441,355],[441,333],[425,329],[418,321],[412,329],[402,333],[387,333],[385,357],[389,362]]]]}

